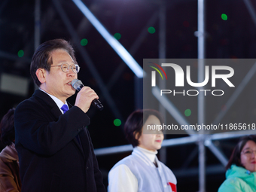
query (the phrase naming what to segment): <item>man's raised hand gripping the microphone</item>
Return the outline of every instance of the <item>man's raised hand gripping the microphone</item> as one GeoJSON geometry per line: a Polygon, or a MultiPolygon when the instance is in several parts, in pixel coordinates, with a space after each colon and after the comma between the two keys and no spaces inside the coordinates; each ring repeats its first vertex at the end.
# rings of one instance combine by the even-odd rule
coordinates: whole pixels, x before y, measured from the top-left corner
{"type": "Polygon", "coordinates": [[[99,96],[90,87],[84,86],[78,92],[77,98],[75,99],[75,106],[81,108],[81,110],[86,113],[89,110],[93,99],[99,99],[99,96]]]}

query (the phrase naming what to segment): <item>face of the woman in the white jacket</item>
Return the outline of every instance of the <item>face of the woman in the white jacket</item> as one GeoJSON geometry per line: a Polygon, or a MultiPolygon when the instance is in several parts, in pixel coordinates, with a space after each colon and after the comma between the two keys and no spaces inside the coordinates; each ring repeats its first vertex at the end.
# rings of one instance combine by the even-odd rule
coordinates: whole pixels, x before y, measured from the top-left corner
{"type": "Polygon", "coordinates": [[[163,142],[163,132],[158,130],[147,130],[148,125],[160,125],[160,120],[150,115],[148,120],[142,126],[142,135],[139,137],[139,147],[148,149],[149,151],[157,151],[161,148],[163,142]]]}

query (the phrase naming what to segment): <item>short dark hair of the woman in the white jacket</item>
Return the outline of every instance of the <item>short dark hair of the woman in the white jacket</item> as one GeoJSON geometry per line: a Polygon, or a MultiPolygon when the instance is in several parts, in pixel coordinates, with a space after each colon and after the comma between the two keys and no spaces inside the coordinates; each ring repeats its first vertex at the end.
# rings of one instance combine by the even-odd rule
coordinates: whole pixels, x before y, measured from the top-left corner
{"type": "Polygon", "coordinates": [[[163,117],[158,111],[153,109],[140,109],[133,111],[132,114],[127,118],[126,123],[124,124],[124,133],[126,134],[126,139],[133,145],[133,148],[139,145],[139,137],[142,135],[142,126],[150,115],[156,116],[160,123],[163,124],[163,117]],[[136,134],[138,137],[136,139],[136,134]]]}

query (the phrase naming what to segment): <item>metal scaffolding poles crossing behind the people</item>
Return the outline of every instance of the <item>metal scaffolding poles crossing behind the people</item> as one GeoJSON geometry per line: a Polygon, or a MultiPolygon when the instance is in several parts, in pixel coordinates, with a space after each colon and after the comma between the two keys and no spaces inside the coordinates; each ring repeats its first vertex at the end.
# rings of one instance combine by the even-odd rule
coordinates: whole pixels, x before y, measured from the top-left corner
{"type": "MultiPolygon", "coordinates": [[[[254,11],[253,6],[251,5],[250,0],[243,0],[245,2],[246,7],[248,8],[249,14],[252,17],[252,20],[254,21],[254,24],[256,25],[256,14],[254,11]]],[[[40,18],[40,0],[35,0],[35,47],[38,47],[39,40],[40,40],[40,20],[44,20],[40,18]]],[[[95,80],[97,81],[97,84],[99,84],[99,88],[102,90],[102,98],[105,99],[106,102],[108,102],[109,108],[111,109],[112,113],[114,114],[115,117],[118,117],[119,119],[123,120],[123,117],[120,113],[120,110],[118,109],[116,103],[114,102],[114,99],[112,98],[111,94],[109,93],[109,90],[113,87],[113,84],[115,81],[117,81],[117,78],[119,78],[120,74],[123,72],[125,69],[124,65],[119,65],[119,67],[116,69],[116,71],[111,75],[110,80],[105,83],[102,81],[102,78],[99,75],[99,72],[97,72],[97,69],[95,68],[95,65],[93,64],[92,59],[90,59],[89,54],[87,53],[87,50],[83,49],[81,46],[79,46],[80,38],[78,35],[78,32],[74,29],[72,26],[72,22],[69,20],[69,17],[66,14],[66,11],[62,8],[62,5],[59,0],[53,0],[53,5],[56,8],[57,13],[61,17],[63,23],[66,25],[66,29],[69,31],[70,35],[72,36],[73,42],[77,44],[78,51],[81,53],[82,58],[84,61],[87,63],[88,69],[90,70],[90,73],[93,75],[95,80]]],[[[80,0],[73,0],[74,4],[81,5],[83,4],[80,0]]],[[[160,1],[163,2],[163,1],[160,1]]],[[[178,2],[178,1],[177,1],[178,2]]],[[[182,1],[183,2],[183,1],[182,1]]],[[[86,6],[83,4],[86,8],[86,6]]],[[[79,8],[79,6],[78,6],[79,8]]],[[[206,55],[206,43],[205,43],[205,37],[206,37],[206,32],[205,32],[205,1],[204,0],[198,0],[198,31],[195,33],[198,38],[198,59],[200,61],[199,66],[198,66],[198,82],[203,81],[203,75],[204,75],[204,63],[203,59],[205,59],[206,55]]],[[[147,27],[153,25],[154,23],[157,22],[157,19],[159,20],[159,26],[160,26],[160,36],[159,36],[159,57],[160,58],[166,58],[166,7],[164,5],[164,2],[160,4],[159,11],[156,11],[154,14],[152,14],[151,18],[148,20],[148,23],[145,23],[145,27],[142,30],[142,32],[138,35],[136,38],[136,41],[133,43],[132,47],[130,48],[129,51],[123,50],[123,47],[120,44],[114,45],[114,46],[120,46],[118,47],[113,47],[113,49],[117,52],[117,54],[123,59],[123,62],[128,64],[128,62],[133,62],[133,64],[136,66],[136,61],[133,59],[131,55],[136,53],[136,51],[139,49],[139,46],[142,44],[143,38],[145,35],[147,35],[147,27]],[[123,52],[119,52],[120,50],[123,50],[123,52]],[[125,58],[123,53],[129,53],[129,58],[125,58]],[[130,61],[128,61],[130,59],[130,61]]],[[[93,14],[92,14],[93,15],[93,14]]],[[[85,15],[86,16],[86,15],[85,15]]],[[[92,20],[90,20],[92,22],[92,20]]],[[[94,23],[92,23],[94,26],[94,23]]],[[[97,28],[96,28],[97,29],[97,28]]],[[[97,29],[99,30],[99,29],[97,29]]],[[[106,41],[108,44],[113,43],[116,44],[117,42],[113,39],[110,38],[110,36],[106,36],[106,41]]],[[[17,59],[17,56],[8,54],[8,53],[3,53],[0,51],[0,56],[6,57],[8,59],[17,59]]],[[[29,63],[29,58],[23,58],[24,62],[29,63]]],[[[139,68],[139,65],[136,66],[139,68]]],[[[130,66],[132,69],[133,66],[130,66]]],[[[140,69],[139,69],[140,70],[140,69]]],[[[227,111],[230,110],[230,107],[236,102],[236,99],[242,93],[242,90],[248,84],[248,82],[251,80],[252,76],[256,72],[256,64],[252,66],[251,70],[249,70],[248,74],[245,75],[245,78],[242,80],[242,82],[239,84],[239,86],[236,88],[236,91],[233,93],[232,96],[230,96],[230,99],[227,101],[226,106],[227,110],[225,111],[220,111],[218,116],[214,120],[214,124],[217,124],[221,121],[221,119],[224,117],[225,114],[227,114],[227,111]]],[[[136,74],[136,73],[135,73],[136,74]]],[[[139,78],[142,78],[141,72],[138,72],[136,74],[139,78]],[[139,74],[139,75],[138,75],[139,74]]],[[[155,88],[157,89],[157,88],[155,88]]],[[[175,105],[173,105],[172,101],[169,101],[168,99],[159,99],[157,98],[157,95],[154,94],[155,89],[152,90],[152,93],[154,96],[156,96],[156,99],[159,100],[159,102],[165,102],[164,105],[160,105],[160,112],[165,116],[166,113],[169,113],[172,115],[172,117],[177,120],[178,123],[180,124],[187,124],[189,125],[190,123],[185,120],[185,118],[180,114],[177,108],[175,108],[175,105]]],[[[142,90],[141,90],[142,91],[142,90]]],[[[138,93],[139,94],[139,93],[138,93]]],[[[198,96],[198,123],[202,124],[205,122],[205,98],[203,94],[200,94],[198,96]]],[[[198,169],[189,169],[186,171],[186,175],[192,175],[194,172],[199,172],[199,191],[200,192],[205,192],[206,191],[206,172],[216,172],[216,171],[223,171],[223,167],[226,166],[227,164],[227,157],[222,153],[222,151],[214,145],[213,141],[216,140],[224,140],[224,139],[235,139],[239,138],[244,135],[248,134],[254,134],[254,131],[239,131],[236,133],[216,133],[212,135],[206,135],[206,134],[200,134],[200,135],[195,135],[194,133],[188,132],[187,133],[189,136],[181,137],[178,139],[165,139],[163,140],[163,153],[161,152],[161,158],[164,158],[166,156],[166,151],[165,148],[167,147],[175,147],[179,145],[190,145],[190,144],[197,144],[198,146],[198,160],[199,160],[199,167],[198,169]],[[209,148],[210,151],[212,151],[212,154],[215,155],[215,157],[218,158],[220,163],[223,165],[222,167],[220,166],[212,166],[206,168],[206,148],[209,148]],[[162,155],[164,154],[164,155],[162,155]]],[[[117,154],[117,153],[123,153],[126,151],[133,151],[132,145],[121,145],[121,146],[115,146],[111,148],[98,148],[95,149],[95,154],[97,156],[103,156],[103,155],[108,155],[108,154],[117,154]]],[[[184,168],[186,168],[186,163],[188,163],[190,160],[192,160],[195,156],[197,155],[197,151],[191,151],[190,156],[187,158],[187,162],[184,163],[184,168]]],[[[163,160],[164,162],[164,160],[163,160]]],[[[184,172],[184,169],[181,170],[181,172],[177,172],[176,175],[182,175],[182,172],[184,172]]]]}

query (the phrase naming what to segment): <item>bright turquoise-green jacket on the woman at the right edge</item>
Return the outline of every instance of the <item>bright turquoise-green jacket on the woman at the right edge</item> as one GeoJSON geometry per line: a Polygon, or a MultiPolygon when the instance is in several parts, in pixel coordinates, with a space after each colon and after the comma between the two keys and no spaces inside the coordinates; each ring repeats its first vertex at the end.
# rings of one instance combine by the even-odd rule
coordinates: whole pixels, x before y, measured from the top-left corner
{"type": "Polygon", "coordinates": [[[218,192],[256,192],[256,172],[233,165],[227,170],[226,178],[218,192]]]}

